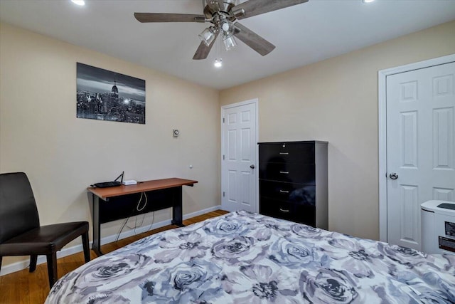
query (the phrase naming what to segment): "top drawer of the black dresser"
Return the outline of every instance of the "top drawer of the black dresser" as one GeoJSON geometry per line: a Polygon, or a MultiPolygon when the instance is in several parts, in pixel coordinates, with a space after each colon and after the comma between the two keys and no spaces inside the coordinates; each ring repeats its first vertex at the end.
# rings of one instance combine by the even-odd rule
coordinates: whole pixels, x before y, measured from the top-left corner
{"type": "Polygon", "coordinates": [[[262,143],[259,162],[314,164],[314,143],[262,143]]]}

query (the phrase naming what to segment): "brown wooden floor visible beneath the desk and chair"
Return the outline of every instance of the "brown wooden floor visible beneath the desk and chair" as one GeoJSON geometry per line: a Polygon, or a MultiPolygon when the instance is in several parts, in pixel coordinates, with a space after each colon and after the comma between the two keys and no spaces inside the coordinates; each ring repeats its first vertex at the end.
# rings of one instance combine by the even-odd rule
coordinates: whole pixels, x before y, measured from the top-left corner
{"type": "MultiPolygon", "coordinates": [[[[210,219],[215,216],[220,216],[228,212],[223,210],[217,210],[203,214],[200,216],[186,219],[183,224],[190,225],[210,219]]],[[[114,251],[117,248],[123,247],[129,243],[137,241],[149,236],[150,234],[156,234],[157,232],[173,229],[177,226],[168,225],[159,229],[154,229],[144,234],[138,234],[127,239],[122,239],[114,243],[107,243],[101,246],[103,253],[114,251]]],[[[96,254],[90,251],[91,258],[96,258],[96,254]]],[[[73,254],[71,256],[65,256],[64,258],[58,259],[58,278],[61,278],[65,273],[73,271],[75,268],[81,266],[84,263],[84,255],[82,252],[73,254]]],[[[48,283],[48,271],[46,264],[40,264],[36,266],[36,271],[29,273],[28,269],[17,271],[15,273],[7,274],[6,276],[0,276],[0,303],[1,304],[40,304],[44,303],[45,298],[49,293],[48,283]]]]}

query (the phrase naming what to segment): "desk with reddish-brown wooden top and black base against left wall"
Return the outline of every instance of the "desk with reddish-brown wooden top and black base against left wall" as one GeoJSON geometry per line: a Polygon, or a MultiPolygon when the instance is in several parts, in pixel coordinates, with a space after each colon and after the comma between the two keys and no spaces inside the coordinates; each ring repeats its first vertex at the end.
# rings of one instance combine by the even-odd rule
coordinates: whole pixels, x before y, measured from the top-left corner
{"type": "Polygon", "coordinates": [[[140,182],[129,186],[87,188],[93,198],[93,251],[98,256],[102,255],[101,224],[109,221],[172,208],[172,224],[183,226],[182,186],[193,187],[197,182],[191,179],[171,178],[140,182]]]}

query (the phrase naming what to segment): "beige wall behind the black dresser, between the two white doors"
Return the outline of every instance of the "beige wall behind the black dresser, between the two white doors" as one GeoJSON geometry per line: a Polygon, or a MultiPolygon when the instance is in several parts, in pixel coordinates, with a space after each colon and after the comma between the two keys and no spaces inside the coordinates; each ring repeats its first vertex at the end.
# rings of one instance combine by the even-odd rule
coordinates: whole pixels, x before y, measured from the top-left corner
{"type": "Polygon", "coordinates": [[[327,140],[329,229],[379,239],[378,70],[451,53],[455,21],[223,90],[220,105],[259,98],[259,141],[327,140]]]}

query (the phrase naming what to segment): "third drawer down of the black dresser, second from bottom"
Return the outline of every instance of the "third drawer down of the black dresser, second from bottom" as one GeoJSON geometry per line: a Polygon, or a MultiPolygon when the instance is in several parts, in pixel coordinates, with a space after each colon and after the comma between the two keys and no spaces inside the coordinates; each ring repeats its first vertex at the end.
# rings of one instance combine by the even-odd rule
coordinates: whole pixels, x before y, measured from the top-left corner
{"type": "Polygon", "coordinates": [[[316,206],[316,186],[259,180],[259,193],[269,199],[316,206]]]}

